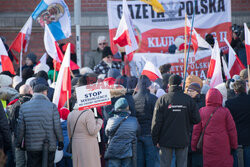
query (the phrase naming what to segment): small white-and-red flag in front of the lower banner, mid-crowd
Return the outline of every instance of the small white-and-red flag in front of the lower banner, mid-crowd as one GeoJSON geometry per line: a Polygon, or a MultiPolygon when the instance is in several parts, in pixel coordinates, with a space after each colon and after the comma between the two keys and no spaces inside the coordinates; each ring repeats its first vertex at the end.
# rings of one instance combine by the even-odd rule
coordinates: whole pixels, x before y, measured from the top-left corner
{"type": "Polygon", "coordinates": [[[155,65],[150,61],[146,61],[146,64],[142,70],[141,75],[146,75],[153,82],[158,78],[162,79],[160,70],[156,68],[155,65]]]}

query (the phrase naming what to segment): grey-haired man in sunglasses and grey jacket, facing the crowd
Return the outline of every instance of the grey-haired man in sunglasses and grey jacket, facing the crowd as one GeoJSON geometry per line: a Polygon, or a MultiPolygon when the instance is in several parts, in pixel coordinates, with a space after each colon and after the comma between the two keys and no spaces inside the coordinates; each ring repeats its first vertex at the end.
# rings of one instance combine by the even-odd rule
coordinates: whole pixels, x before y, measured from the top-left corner
{"type": "Polygon", "coordinates": [[[102,51],[104,47],[108,46],[108,40],[105,36],[99,36],[97,39],[97,49],[95,51],[87,52],[84,55],[84,67],[94,69],[94,67],[102,60],[102,51]]]}

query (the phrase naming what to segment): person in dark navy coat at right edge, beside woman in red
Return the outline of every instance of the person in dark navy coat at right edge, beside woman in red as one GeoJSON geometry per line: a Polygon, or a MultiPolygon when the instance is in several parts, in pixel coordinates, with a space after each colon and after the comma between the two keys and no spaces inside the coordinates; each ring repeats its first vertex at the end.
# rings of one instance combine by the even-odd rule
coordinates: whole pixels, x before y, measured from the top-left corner
{"type": "Polygon", "coordinates": [[[250,95],[246,94],[246,82],[242,79],[233,84],[236,96],[226,101],[236,124],[238,143],[243,147],[244,166],[250,166],[250,95]]]}

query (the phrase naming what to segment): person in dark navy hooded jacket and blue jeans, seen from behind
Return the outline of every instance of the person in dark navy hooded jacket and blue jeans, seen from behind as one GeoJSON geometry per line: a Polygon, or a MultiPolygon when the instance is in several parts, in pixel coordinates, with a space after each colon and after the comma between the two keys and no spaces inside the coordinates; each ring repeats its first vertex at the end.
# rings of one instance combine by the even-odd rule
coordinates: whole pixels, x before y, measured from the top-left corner
{"type": "Polygon", "coordinates": [[[137,84],[137,93],[133,96],[136,118],[141,127],[137,140],[137,167],[150,167],[159,164],[158,150],[152,142],[151,124],[157,97],[150,93],[152,82],[146,75],[141,75],[137,84]]]}

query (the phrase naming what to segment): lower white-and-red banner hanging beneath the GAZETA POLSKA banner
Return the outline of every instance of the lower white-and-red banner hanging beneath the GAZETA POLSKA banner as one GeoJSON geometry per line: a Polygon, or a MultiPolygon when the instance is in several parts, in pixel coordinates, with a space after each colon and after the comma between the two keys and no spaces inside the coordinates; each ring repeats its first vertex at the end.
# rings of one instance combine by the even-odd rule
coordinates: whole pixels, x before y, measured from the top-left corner
{"type": "MultiPolygon", "coordinates": [[[[187,68],[188,74],[206,79],[210,57],[211,50],[199,50],[195,56],[193,52],[190,52],[187,68]]],[[[141,74],[145,65],[145,59],[152,62],[157,68],[163,64],[169,63],[172,65],[170,72],[184,78],[184,53],[135,53],[133,60],[130,62],[131,74],[133,76],[141,74]]]]}

